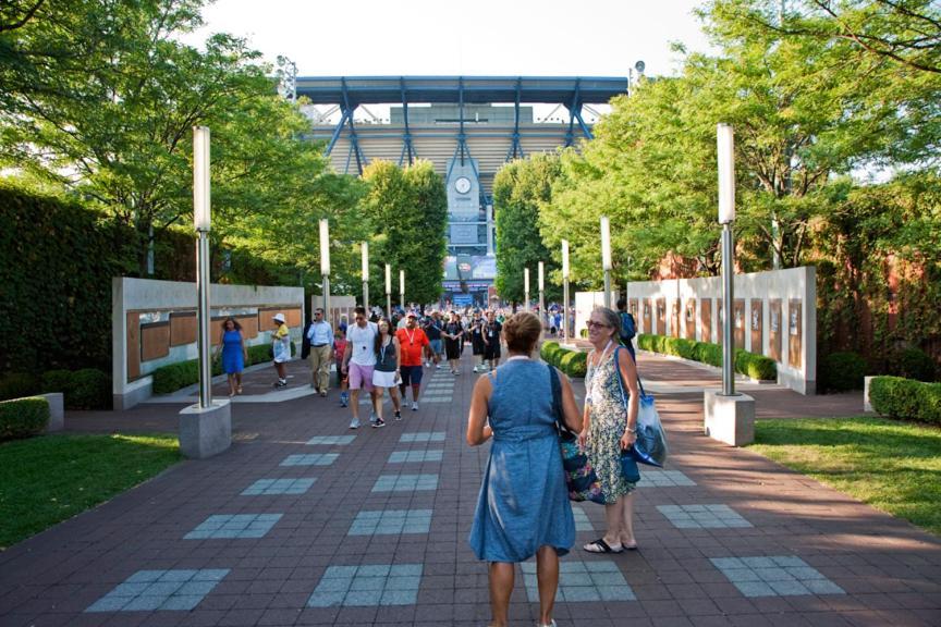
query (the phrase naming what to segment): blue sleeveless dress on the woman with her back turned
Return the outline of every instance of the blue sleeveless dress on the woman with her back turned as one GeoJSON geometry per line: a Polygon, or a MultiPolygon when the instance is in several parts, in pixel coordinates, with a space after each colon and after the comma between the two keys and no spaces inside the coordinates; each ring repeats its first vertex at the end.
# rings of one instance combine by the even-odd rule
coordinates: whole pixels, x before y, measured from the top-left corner
{"type": "Polygon", "coordinates": [[[493,439],[467,541],[477,558],[488,562],[524,562],[546,545],[564,555],[575,543],[575,519],[553,427],[549,370],[514,359],[488,377],[493,439]]]}

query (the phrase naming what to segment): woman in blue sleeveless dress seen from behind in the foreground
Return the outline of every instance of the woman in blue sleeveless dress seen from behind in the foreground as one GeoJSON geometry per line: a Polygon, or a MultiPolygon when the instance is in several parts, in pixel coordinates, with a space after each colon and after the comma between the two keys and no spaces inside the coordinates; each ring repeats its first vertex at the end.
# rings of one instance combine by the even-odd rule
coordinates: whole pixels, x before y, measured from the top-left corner
{"type": "MultiPolygon", "coordinates": [[[[477,511],[468,542],[478,560],[490,563],[493,627],[509,619],[514,564],[536,555],[540,625],[554,626],[559,556],[575,542],[575,520],[555,434],[550,370],[530,359],[542,324],[533,314],[516,314],[503,325],[510,358],[477,380],[471,399],[467,443],[490,438],[477,511]],[[489,419],[489,420],[488,420],[489,419]]],[[[582,430],[569,379],[562,383],[565,423],[582,430]]]]}

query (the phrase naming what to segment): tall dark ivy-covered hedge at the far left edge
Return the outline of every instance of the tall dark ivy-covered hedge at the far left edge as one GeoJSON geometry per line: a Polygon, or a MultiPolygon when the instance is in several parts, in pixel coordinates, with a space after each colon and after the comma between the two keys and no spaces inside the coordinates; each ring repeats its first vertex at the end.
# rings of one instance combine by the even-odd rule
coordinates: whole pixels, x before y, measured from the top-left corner
{"type": "Polygon", "coordinates": [[[124,237],[78,204],[0,183],[0,372],[110,369],[124,237]]]}

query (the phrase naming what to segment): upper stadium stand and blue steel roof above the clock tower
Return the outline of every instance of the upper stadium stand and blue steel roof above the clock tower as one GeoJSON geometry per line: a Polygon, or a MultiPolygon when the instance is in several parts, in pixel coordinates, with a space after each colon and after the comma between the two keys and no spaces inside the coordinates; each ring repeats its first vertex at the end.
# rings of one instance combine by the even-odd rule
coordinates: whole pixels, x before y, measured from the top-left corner
{"type": "MultiPolygon", "coordinates": [[[[489,192],[500,167],[527,153],[573,146],[591,138],[583,107],[607,103],[626,94],[626,77],[589,76],[327,76],[297,77],[296,91],[314,104],[341,112],[337,124],[318,123],[313,138],[327,142],[334,168],[362,173],[374,159],[412,163],[428,159],[445,174],[447,163],[474,159],[478,179],[489,192]],[[554,104],[567,115],[550,122],[521,116],[521,106],[554,104]],[[402,107],[401,122],[354,123],[357,108],[368,104],[402,107]],[[448,121],[410,121],[410,106],[453,104],[456,116],[448,121]],[[512,106],[512,115],[497,123],[480,123],[465,115],[465,108],[480,104],[512,106]]],[[[414,109],[413,109],[414,111],[414,109]]],[[[531,118],[531,110],[529,111],[531,118]]]]}

